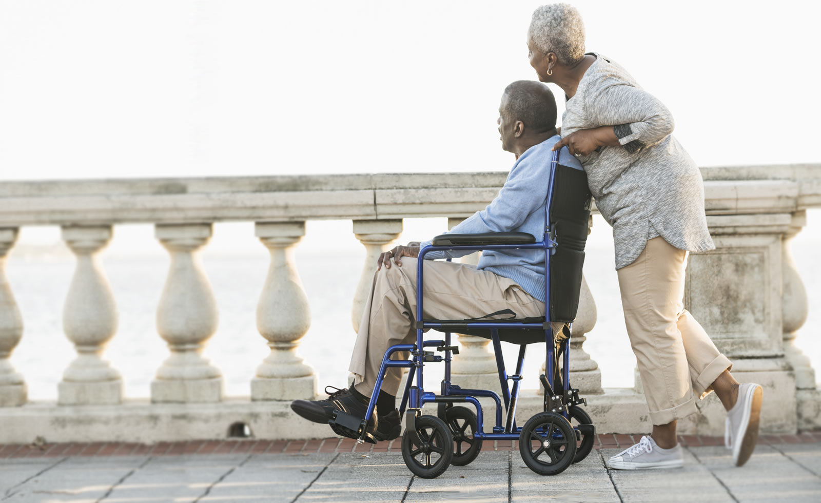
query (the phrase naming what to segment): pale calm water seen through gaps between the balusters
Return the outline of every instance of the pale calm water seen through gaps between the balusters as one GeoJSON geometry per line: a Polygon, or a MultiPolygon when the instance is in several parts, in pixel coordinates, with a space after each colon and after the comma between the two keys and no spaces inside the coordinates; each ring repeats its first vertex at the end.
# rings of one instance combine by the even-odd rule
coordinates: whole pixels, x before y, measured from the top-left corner
{"type": "MultiPolygon", "coordinates": [[[[631,386],[635,358],[621,315],[616,273],[612,268],[612,243],[593,242],[588,249],[585,276],[598,309],[598,321],[589,333],[585,349],[599,362],[604,385],[631,386]]],[[[302,245],[300,245],[301,247],[302,245]]],[[[793,252],[810,298],[810,316],[800,330],[799,345],[821,370],[821,268],[816,265],[821,236],[803,233],[793,252]]],[[[302,339],[300,354],[316,369],[320,390],[324,385],[342,386],[346,380],[349,351],[355,334],[351,328],[351,301],[359,278],[364,251],[300,251],[297,267],[311,303],[313,321],[302,339]]],[[[216,294],[220,323],[205,355],[225,376],[228,395],[249,395],[255,368],[268,347],[255,327],[255,309],[268,267],[268,254],[259,252],[229,256],[206,251],[204,268],[216,294]]],[[[117,335],[105,357],[122,372],[126,395],[149,395],[149,383],[167,358],[165,342],[155,330],[154,311],[167,273],[167,256],[103,255],[120,311],[117,335]]],[[[62,303],[71,281],[71,256],[45,260],[16,256],[7,263],[7,275],[21,308],[25,333],[11,361],[29,385],[31,399],[55,399],[57,382],[75,351],[62,334],[62,303]]],[[[709,330],[709,329],[708,329],[709,330]]],[[[506,344],[507,345],[507,344],[506,344]]],[[[508,348],[508,361],[515,358],[508,348]]],[[[535,347],[525,364],[525,388],[538,388],[543,350],[535,347]]],[[[441,366],[435,366],[436,370],[441,366]]],[[[436,371],[428,382],[441,379],[436,371]]]]}

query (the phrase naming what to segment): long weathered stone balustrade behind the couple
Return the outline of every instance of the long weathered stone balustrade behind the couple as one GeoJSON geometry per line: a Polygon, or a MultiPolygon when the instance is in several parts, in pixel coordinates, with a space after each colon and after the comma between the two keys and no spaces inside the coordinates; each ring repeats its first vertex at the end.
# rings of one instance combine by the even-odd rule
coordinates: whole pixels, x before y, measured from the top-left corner
{"type": "MultiPolygon", "coordinates": [[[[734,374],[768,390],[763,423],[768,431],[821,427],[821,390],[809,359],[794,344],[808,302],[790,251],[791,239],[805,225],[806,209],[821,207],[821,164],[702,168],[702,173],[717,249],[690,257],[686,307],[709,326],[718,347],[733,360],[734,374]]],[[[401,233],[402,219],[447,217],[451,227],[484,208],[505,177],[425,173],[0,182],[0,442],[35,436],[49,441],[214,438],[237,423],[262,438],[327,435],[321,425],[296,420],[288,408],[291,399],[317,393],[314,368],[299,356],[311,323],[294,261],[305,221],[353,221],[352,232],[365,248],[351,302],[356,330],[376,257],[401,233]],[[219,221],[255,222],[256,237],[270,252],[256,311],[259,342],[268,344],[270,353],[262,362],[248,362],[258,365],[250,397],[225,396],[221,371],[202,356],[217,329],[218,306],[198,252],[219,221]],[[166,341],[169,357],[158,362],[150,400],[124,397],[120,372],[103,358],[106,344],[116,337],[117,304],[96,255],[112,238],[113,226],[132,222],[154,224],[156,238],[171,256],[156,307],[157,335],[166,341]],[[55,383],[56,403],[30,402],[25,376],[11,365],[25,330],[4,272],[5,258],[19,228],[29,225],[61,226],[63,240],[76,255],[63,329],[77,356],[55,383]]],[[[461,259],[476,260],[475,255],[461,259]]],[[[647,430],[640,379],[631,389],[608,388],[607,376],[603,379],[583,348],[595,323],[594,293],[585,282],[571,343],[572,382],[589,398],[599,431],[647,430]]],[[[457,339],[461,354],[453,363],[454,381],[496,389],[488,340],[457,339]]],[[[539,392],[525,390],[518,417],[540,406],[539,392]]],[[[487,413],[492,417],[491,410],[487,413]]],[[[681,431],[720,433],[718,400],[705,400],[702,413],[683,422],[681,431]]]]}

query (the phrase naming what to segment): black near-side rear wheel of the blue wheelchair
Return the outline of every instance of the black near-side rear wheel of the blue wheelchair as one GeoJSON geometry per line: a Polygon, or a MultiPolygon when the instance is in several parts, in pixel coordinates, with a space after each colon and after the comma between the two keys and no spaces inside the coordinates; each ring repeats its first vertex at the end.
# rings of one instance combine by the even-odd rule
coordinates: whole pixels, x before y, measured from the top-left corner
{"type": "Polygon", "coordinates": [[[521,429],[519,453],[535,473],[557,475],[573,463],[576,433],[562,414],[538,413],[521,429]]]}

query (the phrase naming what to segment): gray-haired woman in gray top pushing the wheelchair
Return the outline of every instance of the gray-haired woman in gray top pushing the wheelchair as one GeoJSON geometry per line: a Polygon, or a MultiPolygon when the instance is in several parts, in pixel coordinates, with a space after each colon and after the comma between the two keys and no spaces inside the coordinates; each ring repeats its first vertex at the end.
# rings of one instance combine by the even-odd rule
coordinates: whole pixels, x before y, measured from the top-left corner
{"type": "Polygon", "coordinates": [[[739,384],[732,363],[683,306],[688,252],[714,248],[704,187],[671,136],[672,116],[617,62],[585,53],[579,12],[564,3],[533,13],[530,65],[566,95],[562,141],[587,172],[590,192],[613,228],[627,334],[653,432],[608,461],[611,468],[681,466],[676,421],[715,391],[727,408],[725,438],[741,466],[758,440],[760,385],[739,384]]]}

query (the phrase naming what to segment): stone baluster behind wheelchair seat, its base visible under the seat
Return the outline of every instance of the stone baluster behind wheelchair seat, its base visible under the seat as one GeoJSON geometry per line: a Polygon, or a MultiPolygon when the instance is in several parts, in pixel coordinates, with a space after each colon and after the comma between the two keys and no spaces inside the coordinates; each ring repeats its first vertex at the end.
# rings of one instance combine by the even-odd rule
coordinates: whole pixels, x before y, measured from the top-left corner
{"type": "MultiPolygon", "coordinates": [[[[447,219],[447,228],[453,228],[462,220],[464,219],[447,219]]],[[[476,252],[454,260],[461,264],[476,265],[480,255],[480,252],[476,252]]],[[[490,340],[465,334],[457,334],[457,339],[460,348],[459,354],[453,357],[453,383],[463,388],[498,390],[499,375],[496,358],[490,349],[490,340]]]]}

